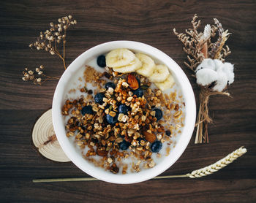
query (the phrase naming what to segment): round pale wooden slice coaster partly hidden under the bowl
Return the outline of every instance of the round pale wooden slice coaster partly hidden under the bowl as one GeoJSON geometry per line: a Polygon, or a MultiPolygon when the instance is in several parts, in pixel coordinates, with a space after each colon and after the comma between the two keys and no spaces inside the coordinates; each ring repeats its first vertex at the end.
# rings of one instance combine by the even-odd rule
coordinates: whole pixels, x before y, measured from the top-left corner
{"type": "Polygon", "coordinates": [[[32,132],[34,146],[42,156],[52,161],[70,161],[61,149],[61,145],[59,145],[56,134],[54,133],[51,113],[52,111],[48,110],[34,124],[32,132]]]}

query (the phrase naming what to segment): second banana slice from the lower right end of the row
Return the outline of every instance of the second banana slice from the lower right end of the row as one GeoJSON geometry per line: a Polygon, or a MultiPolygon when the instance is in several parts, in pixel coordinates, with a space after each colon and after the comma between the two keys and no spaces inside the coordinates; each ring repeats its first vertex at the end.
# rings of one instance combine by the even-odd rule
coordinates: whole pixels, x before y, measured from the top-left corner
{"type": "Polygon", "coordinates": [[[165,79],[169,75],[169,70],[165,65],[157,65],[154,68],[154,72],[148,77],[148,79],[153,83],[161,83],[165,81],[165,79]]]}

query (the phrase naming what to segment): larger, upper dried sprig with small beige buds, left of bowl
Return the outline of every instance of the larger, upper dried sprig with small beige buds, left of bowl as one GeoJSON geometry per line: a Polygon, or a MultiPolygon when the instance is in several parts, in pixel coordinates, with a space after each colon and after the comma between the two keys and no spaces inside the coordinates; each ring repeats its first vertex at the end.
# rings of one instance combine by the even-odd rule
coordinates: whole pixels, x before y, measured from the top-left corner
{"type": "Polygon", "coordinates": [[[36,48],[37,50],[45,50],[51,55],[58,55],[64,64],[64,69],[67,69],[65,61],[65,44],[67,43],[67,28],[71,25],[77,24],[77,20],[72,18],[72,15],[59,18],[59,23],[50,23],[50,28],[44,32],[40,32],[37,41],[30,44],[29,47],[36,48]],[[58,50],[58,45],[63,43],[62,55],[58,50]]]}

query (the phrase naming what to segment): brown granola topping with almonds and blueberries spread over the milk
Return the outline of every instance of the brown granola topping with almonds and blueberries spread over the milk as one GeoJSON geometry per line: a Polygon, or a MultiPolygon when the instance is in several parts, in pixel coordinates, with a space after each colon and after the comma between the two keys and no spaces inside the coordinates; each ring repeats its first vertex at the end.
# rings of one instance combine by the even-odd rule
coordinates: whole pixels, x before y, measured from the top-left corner
{"type": "Polygon", "coordinates": [[[126,174],[129,167],[131,172],[152,168],[155,159],[162,157],[154,149],[168,145],[168,150],[162,150],[167,156],[172,137],[181,133],[182,97],[177,92],[162,93],[140,74],[105,70],[97,72],[86,66],[84,86],[78,88],[81,96],[65,101],[62,114],[67,121],[67,137],[74,139],[83,158],[114,174],[126,174]],[[108,81],[115,88],[105,88],[108,81]],[[89,83],[94,90],[87,87],[89,83]],[[138,88],[143,89],[142,96],[136,92],[138,88]],[[96,95],[102,96],[100,102],[96,95]],[[128,108],[127,112],[120,112],[121,104],[128,108]],[[159,110],[164,112],[162,119],[158,119],[159,110]],[[127,159],[132,162],[127,164],[127,159]]]}

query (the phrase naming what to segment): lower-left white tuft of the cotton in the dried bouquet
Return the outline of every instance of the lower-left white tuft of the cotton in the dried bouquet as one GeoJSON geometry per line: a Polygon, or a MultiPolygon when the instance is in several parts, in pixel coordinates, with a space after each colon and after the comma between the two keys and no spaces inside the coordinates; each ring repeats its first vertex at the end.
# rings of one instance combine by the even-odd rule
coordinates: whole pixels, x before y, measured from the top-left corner
{"type": "Polygon", "coordinates": [[[218,79],[218,74],[212,69],[200,69],[195,74],[198,85],[210,85],[218,79]]]}

